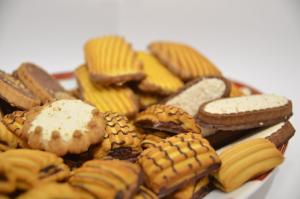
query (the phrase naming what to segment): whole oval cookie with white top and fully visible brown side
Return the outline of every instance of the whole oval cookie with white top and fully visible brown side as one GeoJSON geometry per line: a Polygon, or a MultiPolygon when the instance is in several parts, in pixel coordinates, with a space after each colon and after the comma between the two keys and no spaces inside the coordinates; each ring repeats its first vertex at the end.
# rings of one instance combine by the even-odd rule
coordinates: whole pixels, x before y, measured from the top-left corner
{"type": "Polygon", "coordinates": [[[242,130],[270,126],[292,115],[292,102],[285,97],[261,94],[217,99],[203,104],[197,122],[204,128],[242,130]]]}

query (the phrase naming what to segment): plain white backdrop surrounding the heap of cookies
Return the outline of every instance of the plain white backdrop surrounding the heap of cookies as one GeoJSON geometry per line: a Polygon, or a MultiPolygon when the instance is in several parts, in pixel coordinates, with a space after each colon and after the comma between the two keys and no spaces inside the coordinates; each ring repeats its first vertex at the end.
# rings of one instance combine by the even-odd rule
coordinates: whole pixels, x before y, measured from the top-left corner
{"type": "MultiPolygon", "coordinates": [[[[299,0],[0,0],[0,69],[73,70],[87,39],[111,33],[136,49],[155,39],[196,47],[225,75],[291,98],[300,129],[299,0]]],[[[267,198],[300,198],[299,155],[296,134],[267,198]]]]}

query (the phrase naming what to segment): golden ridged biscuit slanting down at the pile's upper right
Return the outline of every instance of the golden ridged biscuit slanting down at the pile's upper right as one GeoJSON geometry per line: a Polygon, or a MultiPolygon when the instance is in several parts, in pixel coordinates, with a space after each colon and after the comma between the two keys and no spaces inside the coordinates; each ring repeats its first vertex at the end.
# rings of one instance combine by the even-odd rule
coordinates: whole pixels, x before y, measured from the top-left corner
{"type": "Polygon", "coordinates": [[[152,42],[148,48],[172,73],[184,81],[208,75],[221,76],[214,64],[186,44],[158,41],[152,42]]]}

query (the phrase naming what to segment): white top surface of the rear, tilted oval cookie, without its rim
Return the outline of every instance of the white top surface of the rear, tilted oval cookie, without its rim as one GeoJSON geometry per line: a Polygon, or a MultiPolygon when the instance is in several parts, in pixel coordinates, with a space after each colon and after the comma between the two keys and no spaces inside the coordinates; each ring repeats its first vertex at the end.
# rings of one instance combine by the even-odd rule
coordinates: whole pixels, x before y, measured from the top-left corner
{"type": "Polygon", "coordinates": [[[203,103],[222,97],[225,90],[224,81],[218,78],[206,78],[187,88],[167,104],[180,107],[194,116],[203,103]]]}

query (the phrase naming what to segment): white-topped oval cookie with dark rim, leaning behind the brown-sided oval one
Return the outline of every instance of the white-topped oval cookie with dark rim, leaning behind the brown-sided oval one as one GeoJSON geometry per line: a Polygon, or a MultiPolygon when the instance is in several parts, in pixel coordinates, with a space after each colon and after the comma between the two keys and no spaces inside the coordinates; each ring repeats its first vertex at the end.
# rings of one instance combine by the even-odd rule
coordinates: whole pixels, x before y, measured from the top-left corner
{"type": "Polygon", "coordinates": [[[180,107],[195,116],[202,104],[228,97],[230,89],[230,82],[225,78],[213,76],[197,78],[186,84],[178,93],[165,99],[164,103],[180,107]]]}

